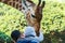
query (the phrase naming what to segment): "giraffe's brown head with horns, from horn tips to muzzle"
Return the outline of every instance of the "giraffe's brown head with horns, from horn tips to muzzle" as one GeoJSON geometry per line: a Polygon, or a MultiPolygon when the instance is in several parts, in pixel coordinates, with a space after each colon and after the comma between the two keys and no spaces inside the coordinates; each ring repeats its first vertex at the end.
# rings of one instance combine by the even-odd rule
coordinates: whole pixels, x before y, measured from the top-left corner
{"type": "Polygon", "coordinates": [[[27,11],[26,19],[29,26],[35,27],[37,35],[40,30],[40,22],[42,19],[42,9],[44,8],[44,1],[40,5],[41,0],[39,0],[38,5],[29,6],[29,11],[27,11]]]}

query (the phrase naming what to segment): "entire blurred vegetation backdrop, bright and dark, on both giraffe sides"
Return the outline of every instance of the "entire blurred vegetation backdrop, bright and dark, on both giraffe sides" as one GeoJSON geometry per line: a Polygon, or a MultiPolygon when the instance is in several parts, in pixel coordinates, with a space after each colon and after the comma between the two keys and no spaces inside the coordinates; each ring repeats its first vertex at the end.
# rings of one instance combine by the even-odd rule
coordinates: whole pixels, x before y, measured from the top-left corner
{"type": "MultiPolygon", "coordinates": [[[[65,1],[46,0],[42,14],[41,29],[44,34],[42,43],[65,43],[65,1]]],[[[23,32],[25,27],[24,14],[0,2],[0,42],[12,43],[11,32],[15,29],[23,32]]]]}

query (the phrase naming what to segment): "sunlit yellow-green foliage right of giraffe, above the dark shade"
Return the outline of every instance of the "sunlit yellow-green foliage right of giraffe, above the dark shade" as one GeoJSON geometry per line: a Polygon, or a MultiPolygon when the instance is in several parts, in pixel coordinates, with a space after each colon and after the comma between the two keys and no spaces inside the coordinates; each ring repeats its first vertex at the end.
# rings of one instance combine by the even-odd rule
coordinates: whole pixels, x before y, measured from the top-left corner
{"type": "Polygon", "coordinates": [[[52,30],[58,32],[65,30],[65,3],[47,2],[43,9],[43,19],[41,27],[43,32],[50,33],[52,30]]]}

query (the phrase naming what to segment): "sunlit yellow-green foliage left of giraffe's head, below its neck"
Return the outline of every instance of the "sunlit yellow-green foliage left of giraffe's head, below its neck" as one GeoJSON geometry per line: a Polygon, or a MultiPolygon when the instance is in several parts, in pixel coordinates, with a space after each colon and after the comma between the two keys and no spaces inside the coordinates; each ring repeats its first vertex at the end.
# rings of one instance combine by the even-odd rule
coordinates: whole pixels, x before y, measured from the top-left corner
{"type": "Polygon", "coordinates": [[[25,24],[24,14],[6,4],[0,3],[0,31],[10,35],[12,30],[24,29],[25,24]]]}

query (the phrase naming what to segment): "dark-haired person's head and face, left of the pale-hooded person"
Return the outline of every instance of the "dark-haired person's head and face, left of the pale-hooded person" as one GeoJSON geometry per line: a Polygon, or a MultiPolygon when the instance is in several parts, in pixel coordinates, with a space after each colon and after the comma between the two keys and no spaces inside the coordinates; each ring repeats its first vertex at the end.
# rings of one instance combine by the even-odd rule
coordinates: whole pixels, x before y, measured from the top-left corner
{"type": "Polygon", "coordinates": [[[23,33],[21,33],[20,30],[14,30],[12,31],[11,33],[11,38],[13,40],[14,43],[16,43],[16,41],[20,39],[20,38],[24,38],[25,35],[23,33]]]}

